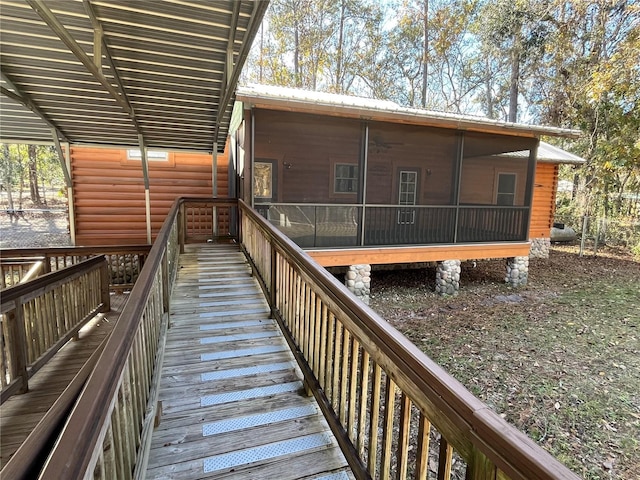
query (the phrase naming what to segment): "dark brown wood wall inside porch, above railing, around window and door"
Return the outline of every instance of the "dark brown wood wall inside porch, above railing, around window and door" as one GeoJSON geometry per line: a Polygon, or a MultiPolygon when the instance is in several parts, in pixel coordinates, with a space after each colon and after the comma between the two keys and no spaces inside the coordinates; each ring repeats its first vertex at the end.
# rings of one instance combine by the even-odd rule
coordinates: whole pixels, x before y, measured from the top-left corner
{"type": "MultiPolygon", "coordinates": [[[[255,161],[276,164],[275,202],[356,203],[334,192],[336,163],[358,165],[363,125],[336,117],[254,110],[255,161]]],[[[369,133],[367,203],[398,203],[398,172],[419,171],[418,204],[451,201],[456,134],[412,125],[373,123],[369,133]]]]}

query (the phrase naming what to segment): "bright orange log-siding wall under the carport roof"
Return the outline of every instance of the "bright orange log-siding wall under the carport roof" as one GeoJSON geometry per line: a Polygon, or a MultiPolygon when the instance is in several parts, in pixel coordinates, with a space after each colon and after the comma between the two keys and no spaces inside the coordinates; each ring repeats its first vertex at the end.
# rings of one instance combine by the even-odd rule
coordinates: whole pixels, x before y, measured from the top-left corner
{"type": "MultiPolygon", "coordinates": [[[[167,161],[149,161],[152,237],[174,200],[211,197],[210,154],[172,152],[167,161]]],[[[77,245],[146,243],[145,193],[140,160],[126,150],[71,148],[77,245]]],[[[228,194],[228,160],[218,155],[218,196],[228,194]]]]}

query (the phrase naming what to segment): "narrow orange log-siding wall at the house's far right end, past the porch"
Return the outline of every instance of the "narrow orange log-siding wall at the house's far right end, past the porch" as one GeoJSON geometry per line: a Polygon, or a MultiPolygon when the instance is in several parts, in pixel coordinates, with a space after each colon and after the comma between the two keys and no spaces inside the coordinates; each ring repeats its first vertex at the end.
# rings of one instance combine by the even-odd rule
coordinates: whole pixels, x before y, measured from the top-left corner
{"type": "Polygon", "coordinates": [[[553,226],[558,189],[558,165],[538,163],[533,189],[529,238],[549,238],[553,226]]]}

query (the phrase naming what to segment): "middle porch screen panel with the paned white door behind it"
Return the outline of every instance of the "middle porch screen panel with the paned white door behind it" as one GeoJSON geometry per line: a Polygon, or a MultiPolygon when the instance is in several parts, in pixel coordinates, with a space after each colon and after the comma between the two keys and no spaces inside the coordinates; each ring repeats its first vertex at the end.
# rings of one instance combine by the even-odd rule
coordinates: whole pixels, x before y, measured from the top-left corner
{"type": "Polygon", "coordinates": [[[365,245],[453,243],[455,131],[369,123],[365,245]]]}

